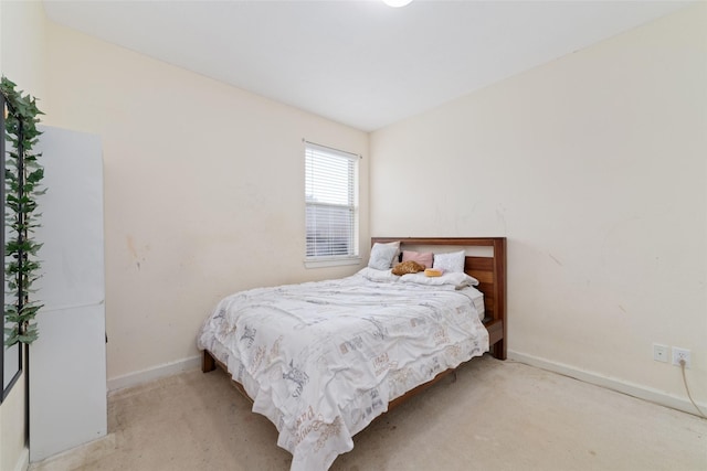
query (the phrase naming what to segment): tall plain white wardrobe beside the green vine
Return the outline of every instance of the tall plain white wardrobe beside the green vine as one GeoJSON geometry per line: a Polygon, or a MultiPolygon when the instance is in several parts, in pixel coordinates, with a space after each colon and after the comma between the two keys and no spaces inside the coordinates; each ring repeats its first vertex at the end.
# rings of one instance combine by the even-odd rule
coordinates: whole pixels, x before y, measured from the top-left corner
{"type": "Polygon", "coordinates": [[[98,136],[42,127],[39,339],[30,346],[30,461],[107,432],[103,160],[98,136]]]}

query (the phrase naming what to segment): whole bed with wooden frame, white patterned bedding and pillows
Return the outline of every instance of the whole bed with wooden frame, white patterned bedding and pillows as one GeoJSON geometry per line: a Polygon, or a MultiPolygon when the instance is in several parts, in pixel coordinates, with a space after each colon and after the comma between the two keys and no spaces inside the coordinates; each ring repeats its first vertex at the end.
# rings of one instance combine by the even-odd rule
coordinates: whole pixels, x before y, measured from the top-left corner
{"type": "Polygon", "coordinates": [[[350,277],[221,300],[199,334],[202,371],[225,370],[275,425],[292,471],[326,470],[372,420],[460,364],[506,358],[505,274],[505,237],[374,237],[350,277]],[[391,272],[432,268],[425,260],[443,275],[391,272]]]}

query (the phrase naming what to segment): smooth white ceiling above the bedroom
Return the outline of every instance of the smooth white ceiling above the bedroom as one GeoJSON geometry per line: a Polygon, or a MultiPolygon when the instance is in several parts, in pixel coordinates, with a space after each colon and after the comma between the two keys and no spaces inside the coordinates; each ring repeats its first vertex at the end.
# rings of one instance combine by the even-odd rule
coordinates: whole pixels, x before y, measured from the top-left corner
{"type": "Polygon", "coordinates": [[[57,23],[366,131],[687,3],[44,0],[57,23]]]}

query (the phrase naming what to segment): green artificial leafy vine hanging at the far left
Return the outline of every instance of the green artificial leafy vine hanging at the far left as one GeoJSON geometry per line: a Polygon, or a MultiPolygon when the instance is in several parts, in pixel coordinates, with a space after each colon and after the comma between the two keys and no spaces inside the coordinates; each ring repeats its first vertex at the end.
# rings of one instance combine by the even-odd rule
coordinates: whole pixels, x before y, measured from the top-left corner
{"type": "Polygon", "coordinates": [[[34,317],[42,304],[31,299],[32,285],[39,278],[41,264],[36,258],[42,244],[33,239],[33,233],[40,226],[35,197],[46,190],[40,183],[44,169],[39,163],[41,153],[32,148],[36,144],[41,131],[36,129],[38,116],[43,113],[30,95],[15,90],[15,84],[4,76],[1,92],[6,107],[7,149],[4,189],[6,189],[6,306],[4,339],[6,345],[30,344],[39,332],[34,317]]]}

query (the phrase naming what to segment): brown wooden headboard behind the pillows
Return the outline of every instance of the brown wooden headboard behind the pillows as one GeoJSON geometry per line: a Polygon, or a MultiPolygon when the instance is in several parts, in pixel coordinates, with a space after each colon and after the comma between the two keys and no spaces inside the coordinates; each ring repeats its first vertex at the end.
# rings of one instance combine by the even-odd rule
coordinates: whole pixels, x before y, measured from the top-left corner
{"type": "Polygon", "coordinates": [[[488,256],[467,255],[464,271],[479,281],[476,288],[484,293],[484,325],[488,330],[490,352],[496,358],[506,360],[506,237],[372,237],[371,246],[397,240],[403,250],[419,246],[436,247],[439,251],[444,248],[452,251],[455,247],[492,249],[488,256]]]}

